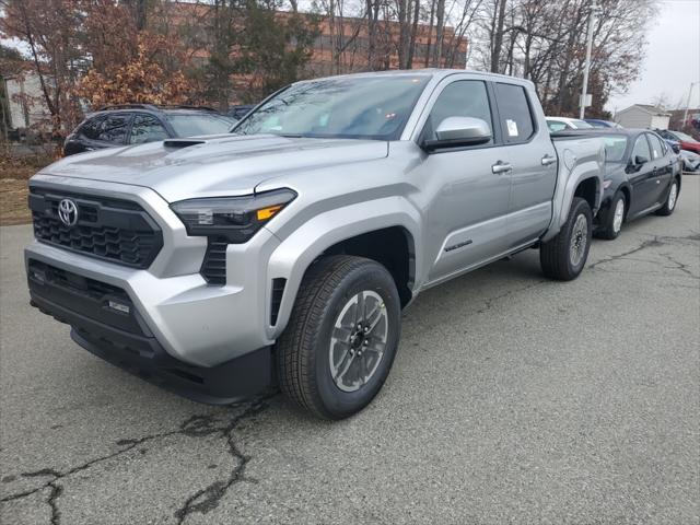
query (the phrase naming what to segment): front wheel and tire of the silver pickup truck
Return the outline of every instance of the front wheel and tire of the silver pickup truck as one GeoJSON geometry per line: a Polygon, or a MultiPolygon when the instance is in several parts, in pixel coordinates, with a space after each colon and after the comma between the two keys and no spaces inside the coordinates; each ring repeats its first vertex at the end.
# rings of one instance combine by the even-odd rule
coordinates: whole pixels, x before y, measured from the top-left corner
{"type": "Polygon", "coordinates": [[[276,346],[280,388],[318,418],[352,416],[382,388],[399,335],[400,301],[386,268],[362,257],[324,257],[306,271],[276,346]],[[371,319],[357,318],[360,301],[371,319]],[[358,320],[364,325],[360,329],[358,320]],[[370,322],[374,327],[365,336],[370,322]]]}

